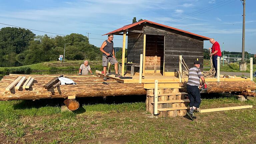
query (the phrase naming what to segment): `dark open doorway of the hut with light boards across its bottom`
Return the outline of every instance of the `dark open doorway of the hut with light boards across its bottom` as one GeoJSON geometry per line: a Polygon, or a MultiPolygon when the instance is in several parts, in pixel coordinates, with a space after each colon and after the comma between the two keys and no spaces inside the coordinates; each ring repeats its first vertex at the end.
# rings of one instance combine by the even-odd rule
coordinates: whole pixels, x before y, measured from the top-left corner
{"type": "Polygon", "coordinates": [[[164,68],[164,36],[146,35],[145,72],[161,73],[164,68]]]}

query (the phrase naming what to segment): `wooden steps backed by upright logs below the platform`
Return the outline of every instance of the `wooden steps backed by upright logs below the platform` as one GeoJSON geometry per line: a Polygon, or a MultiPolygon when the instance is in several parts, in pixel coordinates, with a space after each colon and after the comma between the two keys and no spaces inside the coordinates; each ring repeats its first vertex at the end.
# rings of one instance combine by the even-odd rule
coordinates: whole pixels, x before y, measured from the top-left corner
{"type": "MultiPolygon", "coordinates": [[[[185,116],[189,102],[186,94],[180,93],[178,88],[158,89],[158,116],[185,116]]],[[[154,89],[147,90],[146,111],[154,114],[154,89]]]]}

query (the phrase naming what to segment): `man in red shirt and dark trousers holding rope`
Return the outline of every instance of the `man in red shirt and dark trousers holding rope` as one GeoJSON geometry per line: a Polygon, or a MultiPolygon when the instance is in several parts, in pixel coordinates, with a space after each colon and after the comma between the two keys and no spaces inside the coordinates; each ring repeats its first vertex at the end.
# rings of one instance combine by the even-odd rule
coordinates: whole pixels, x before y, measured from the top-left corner
{"type": "Polygon", "coordinates": [[[210,56],[212,56],[212,64],[216,71],[214,77],[217,77],[217,57],[221,57],[220,44],[213,38],[210,39],[210,43],[212,43],[212,47],[209,48],[209,50],[212,49],[212,54],[210,56]]]}

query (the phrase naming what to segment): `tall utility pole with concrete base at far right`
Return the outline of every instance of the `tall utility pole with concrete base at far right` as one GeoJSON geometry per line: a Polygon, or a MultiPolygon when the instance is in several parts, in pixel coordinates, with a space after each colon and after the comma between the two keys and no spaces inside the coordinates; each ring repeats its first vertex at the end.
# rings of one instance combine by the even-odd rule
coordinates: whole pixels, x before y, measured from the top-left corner
{"type": "Polygon", "coordinates": [[[240,62],[240,71],[246,71],[246,63],[244,62],[244,45],[245,45],[245,0],[243,1],[243,36],[242,36],[242,61],[240,62]]]}

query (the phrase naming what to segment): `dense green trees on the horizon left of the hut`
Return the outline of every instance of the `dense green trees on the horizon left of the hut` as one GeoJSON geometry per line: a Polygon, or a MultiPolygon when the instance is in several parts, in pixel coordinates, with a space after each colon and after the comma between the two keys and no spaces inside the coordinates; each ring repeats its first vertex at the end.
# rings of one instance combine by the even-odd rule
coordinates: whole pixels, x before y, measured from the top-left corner
{"type": "MultiPolygon", "coordinates": [[[[102,60],[99,47],[90,44],[82,34],[36,36],[30,30],[15,27],[0,29],[0,58],[15,58],[24,65],[56,61],[64,54],[65,43],[70,43],[65,47],[65,60],[102,60]]],[[[116,58],[121,58],[121,51],[116,53],[116,58]]]]}

